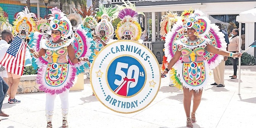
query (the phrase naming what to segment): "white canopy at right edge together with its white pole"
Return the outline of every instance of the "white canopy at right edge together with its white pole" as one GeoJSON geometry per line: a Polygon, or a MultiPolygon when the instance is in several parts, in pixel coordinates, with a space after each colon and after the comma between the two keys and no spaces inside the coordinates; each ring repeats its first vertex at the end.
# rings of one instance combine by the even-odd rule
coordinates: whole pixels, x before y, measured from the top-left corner
{"type": "MultiPolygon", "coordinates": [[[[239,22],[239,37],[241,37],[241,28],[242,28],[242,23],[255,23],[256,22],[256,8],[243,11],[239,13],[239,15],[236,18],[236,21],[239,22]]],[[[239,40],[239,46],[241,46],[241,40],[239,40]]],[[[239,52],[241,52],[241,49],[239,49],[239,52]]],[[[241,76],[241,57],[238,60],[238,94],[240,95],[240,76],[241,76]]]]}

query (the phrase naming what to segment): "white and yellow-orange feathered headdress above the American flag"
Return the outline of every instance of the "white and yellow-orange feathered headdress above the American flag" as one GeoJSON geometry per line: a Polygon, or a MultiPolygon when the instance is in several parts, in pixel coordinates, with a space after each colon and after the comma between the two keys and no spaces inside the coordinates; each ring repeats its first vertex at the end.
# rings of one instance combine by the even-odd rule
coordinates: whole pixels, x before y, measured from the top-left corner
{"type": "Polygon", "coordinates": [[[34,13],[30,13],[27,6],[24,7],[24,9],[25,10],[20,11],[17,14],[16,20],[13,21],[13,34],[18,35],[23,31],[21,36],[26,38],[31,32],[36,31],[36,15],[34,13]]]}

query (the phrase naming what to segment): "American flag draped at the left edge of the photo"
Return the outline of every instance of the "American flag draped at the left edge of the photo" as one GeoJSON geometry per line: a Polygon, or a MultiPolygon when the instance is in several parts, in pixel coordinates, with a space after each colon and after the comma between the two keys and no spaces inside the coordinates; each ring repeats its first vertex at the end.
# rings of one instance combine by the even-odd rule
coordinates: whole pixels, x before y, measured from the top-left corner
{"type": "Polygon", "coordinates": [[[0,62],[9,73],[22,75],[25,62],[26,42],[16,36],[0,62]]]}

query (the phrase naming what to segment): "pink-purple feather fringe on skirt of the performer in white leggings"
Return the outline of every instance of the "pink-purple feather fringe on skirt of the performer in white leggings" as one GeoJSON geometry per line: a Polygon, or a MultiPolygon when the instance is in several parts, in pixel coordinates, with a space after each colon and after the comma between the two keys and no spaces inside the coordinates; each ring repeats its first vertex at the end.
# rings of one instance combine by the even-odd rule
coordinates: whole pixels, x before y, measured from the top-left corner
{"type": "Polygon", "coordinates": [[[73,86],[73,84],[75,83],[75,76],[76,76],[76,68],[73,66],[70,66],[71,70],[69,73],[71,73],[70,75],[68,75],[68,78],[66,78],[66,81],[64,84],[64,86],[61,89],[50,89],[49,87],[47,87],[47,85],[45,85],[44,81],[45,81],[45,68],[47,65],[45,65],[43,68],[40,68],[37,72],[37,77],[36,77],[36,82],[37,84],[39,84],[39,89],[50,93],[50,94],[60,94],[64,91],[66,91],[67,89],[70,89],[70,87],[73,86]]]}

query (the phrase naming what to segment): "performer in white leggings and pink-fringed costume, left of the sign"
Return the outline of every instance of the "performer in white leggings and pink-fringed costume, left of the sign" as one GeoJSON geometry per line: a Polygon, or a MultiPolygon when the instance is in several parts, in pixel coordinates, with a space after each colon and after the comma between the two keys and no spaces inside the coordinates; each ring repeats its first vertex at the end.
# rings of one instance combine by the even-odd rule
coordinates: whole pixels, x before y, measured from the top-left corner
{"type": "MultiPolygon", "coordinates": [[[[71,65],[80,61],[88,61],[87,57],[76,58],[74,48],[71,43],[73,38],[67,39],[73,33],[70,21],[64,13],[57,7],[52,8],[53,17],[50,21],[51,36],[53,40],[42,38],[40,50],[31,53],[35,58],[47,55],[47,65],[42,65],[37,73],[36,81],[40,84],[39,89],[46,92],[45,112],[47,118],[47,128],[52,128],[52,115],[54,100],[57,94],[61,99],[62,108],[62,127],[68,127],[68,92],[73,86],[76,76],[76,68],[71,65]]],[[[36,35],[36,34],[35,34],[36,35]]],[[[40,36],[40,35],[39,35],[40,36]]],[[[35,37],[37,40],[39,36],[35,37]]],[[[41,36],[42,37],[42,36],[41,36]]],[[[89,47],[87,47],[89,49],[89,47]]]]}

